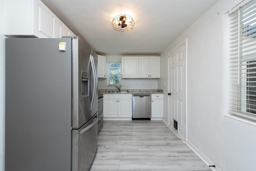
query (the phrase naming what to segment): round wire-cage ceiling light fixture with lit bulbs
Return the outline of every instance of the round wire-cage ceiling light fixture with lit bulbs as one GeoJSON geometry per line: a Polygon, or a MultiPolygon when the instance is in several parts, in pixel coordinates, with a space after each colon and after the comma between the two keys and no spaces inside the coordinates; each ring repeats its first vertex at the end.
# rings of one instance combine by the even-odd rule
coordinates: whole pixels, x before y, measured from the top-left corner
{"type": "Polygon", "coordinates": [[[118,15],[112,20],[112,27],[118,32],[128,32],[132,30],[134,26],[134,21],[131,16],[128,15],[118,15]]]}

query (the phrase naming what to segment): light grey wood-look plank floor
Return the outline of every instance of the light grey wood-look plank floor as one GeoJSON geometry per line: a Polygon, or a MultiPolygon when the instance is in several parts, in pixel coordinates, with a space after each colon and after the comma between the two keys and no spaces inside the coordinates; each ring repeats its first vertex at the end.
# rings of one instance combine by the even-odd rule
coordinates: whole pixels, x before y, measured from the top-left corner
{"type": "Polygon", "coordinates": [[[90,171],[211,170],[163,121],[104,121],[90,171]]]}

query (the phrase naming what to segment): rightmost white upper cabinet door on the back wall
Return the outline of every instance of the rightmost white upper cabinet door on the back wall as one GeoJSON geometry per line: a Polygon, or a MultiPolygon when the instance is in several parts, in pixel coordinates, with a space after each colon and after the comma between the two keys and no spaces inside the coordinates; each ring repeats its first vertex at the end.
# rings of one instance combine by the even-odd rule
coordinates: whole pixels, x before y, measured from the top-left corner
{"type": "Polygon", "coordinates": [[[160,56],[150,57],[150,78],[160,78],[160,56]]]}

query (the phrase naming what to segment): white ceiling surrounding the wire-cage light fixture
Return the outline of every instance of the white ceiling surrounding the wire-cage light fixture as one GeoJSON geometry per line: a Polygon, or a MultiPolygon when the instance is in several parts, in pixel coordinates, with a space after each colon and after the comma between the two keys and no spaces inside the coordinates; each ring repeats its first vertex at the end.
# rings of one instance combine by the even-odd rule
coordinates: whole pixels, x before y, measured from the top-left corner
{"type": "Polygon", "coordinates": [[[99,55],[159,55],[217,0],[42,0],[99,55]],[[119,14],[132,16],[129,32],[112,28],[119,14]]]}

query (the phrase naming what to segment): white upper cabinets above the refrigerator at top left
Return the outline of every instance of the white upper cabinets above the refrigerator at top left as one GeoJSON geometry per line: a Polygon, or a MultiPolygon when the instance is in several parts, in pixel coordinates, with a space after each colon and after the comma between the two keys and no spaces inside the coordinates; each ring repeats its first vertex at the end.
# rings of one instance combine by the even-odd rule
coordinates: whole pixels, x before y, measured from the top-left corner
{"type": "Polygon", "coordinates": [[[6,0],[4,12],[4,35],[11,38],[73,36],[71,30],[40,0],[6,0]]]}

